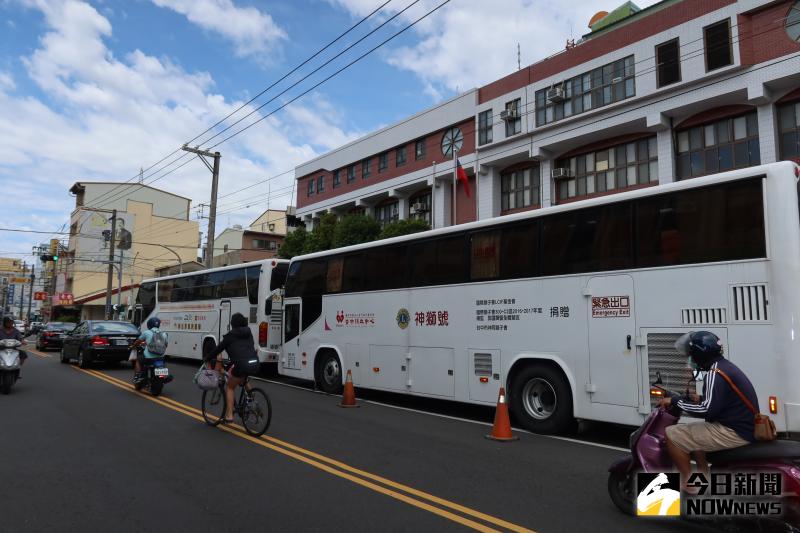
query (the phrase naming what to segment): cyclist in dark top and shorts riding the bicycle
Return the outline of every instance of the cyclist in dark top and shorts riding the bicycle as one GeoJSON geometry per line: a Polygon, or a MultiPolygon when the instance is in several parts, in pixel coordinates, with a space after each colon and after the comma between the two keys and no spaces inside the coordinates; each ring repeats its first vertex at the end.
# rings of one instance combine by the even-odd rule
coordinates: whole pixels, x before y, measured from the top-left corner
{"type": "Polygon", "coordinates": [[[221,360],[219,356],[223,351],[233,363],[228,369],[225,388],[225,422],[233,422],[233,397],[236,387],[241,385],[247,376],[258,373],[259,366],[253,332],[247,325],[247,318],[241,313],[234,313],[231,317],[231,330],[222,336],[222,342],[203,359],[209,364],[214,358],[221,360]]]}

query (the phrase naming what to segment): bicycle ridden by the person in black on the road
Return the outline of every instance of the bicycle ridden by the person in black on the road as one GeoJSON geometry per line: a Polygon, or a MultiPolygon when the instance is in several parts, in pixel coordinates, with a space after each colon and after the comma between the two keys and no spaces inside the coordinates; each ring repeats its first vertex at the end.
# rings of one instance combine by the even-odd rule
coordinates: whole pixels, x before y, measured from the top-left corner
{"type": "MultiPolygon", "coordinates": [[[[227,370],[231,363],[226,361],[223,364],[227,370]]],[[[202,412],[203,420],[210,426],[218,426],[225,418],[225,387],[227,387],[228,376],[222,373],[219,386],[203,391],[202,412]]],[[[234,393],[234,415],[239,415],[245,431],[253,437],[260,437],[269,428],[272,421],[272,402],[269,395],[263,389],[250,386],[250,378],[247,377],[239,386],[239,399],[235,399],[234,393]]]]}

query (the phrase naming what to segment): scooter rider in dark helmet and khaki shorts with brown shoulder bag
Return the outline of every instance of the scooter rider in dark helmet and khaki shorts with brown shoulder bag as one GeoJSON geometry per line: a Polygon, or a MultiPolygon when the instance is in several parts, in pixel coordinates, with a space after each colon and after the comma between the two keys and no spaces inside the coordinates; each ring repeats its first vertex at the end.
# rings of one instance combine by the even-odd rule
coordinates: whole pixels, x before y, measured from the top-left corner
{"type": "MultiPolygon", "coordinates": [[[[690,365],[707,372],[703,395],[675,402],[689,416],[705,422],[675,424],[666,429],[667,449],[686,483],[691,475],[690,453],[698,467],[708,472],[705,452],[737,448],[755,442],[753,413],[733,391],[726,374],[748,400],[758,409],[758,397],[753,384],[739,367],[723,357],[722,341],[708,331],[691,331],[675,343],[675,348],[690,359],[690,365]]],[[[659,405],[668,407],[672,398],[663,398],[659,405]]],[[[685,485],[683,487],[686,489],[685,485]]]]}

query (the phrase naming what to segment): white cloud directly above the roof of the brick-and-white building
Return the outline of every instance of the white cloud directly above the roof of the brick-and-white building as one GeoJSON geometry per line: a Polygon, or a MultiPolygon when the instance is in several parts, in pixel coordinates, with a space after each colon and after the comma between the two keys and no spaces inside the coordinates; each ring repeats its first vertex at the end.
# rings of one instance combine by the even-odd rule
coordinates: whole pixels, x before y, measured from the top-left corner
{"type": "MultiPolygon", "coordinates": [[[[374,9],[370,0],[329,1],[354,16],[374,9]]],[[[646,7],[656,1],[636,3],[646,7]]],[[[423,0],[400,19],[407,24],[439,3],[423,0]]],[[[517,43],[523,66],[563,50],[567,39],[589,31],[592,15],[612,7],[616,4],[607,0],[458,0],[415,26],[419,42],[393,48],[386,57],[391,65],[416,74],[427,94],[441,97],[442,91],[479,87],[517,70],[517,43]]],[[[386,9],[398,11],[392,4],[386,9]]]]}

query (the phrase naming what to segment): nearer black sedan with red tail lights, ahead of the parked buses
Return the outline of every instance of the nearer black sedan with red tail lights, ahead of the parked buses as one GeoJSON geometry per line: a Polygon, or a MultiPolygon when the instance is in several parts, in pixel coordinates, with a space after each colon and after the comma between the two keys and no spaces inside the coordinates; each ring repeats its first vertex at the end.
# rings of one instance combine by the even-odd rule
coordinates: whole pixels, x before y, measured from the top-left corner
{"type": "Polygon", "coordinates": [[[64,337],[61,362],[76,359],[86,368],[93,361],[126,361],[139,330],[130,322],[87,320],[64,337]]]}

